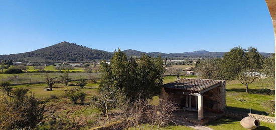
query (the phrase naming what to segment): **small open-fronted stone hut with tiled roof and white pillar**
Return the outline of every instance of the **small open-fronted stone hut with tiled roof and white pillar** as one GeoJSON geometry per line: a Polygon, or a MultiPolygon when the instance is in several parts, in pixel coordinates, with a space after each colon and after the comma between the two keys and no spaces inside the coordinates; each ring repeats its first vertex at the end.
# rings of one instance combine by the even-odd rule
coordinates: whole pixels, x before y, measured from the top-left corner
{"type": "MultiPolygon", "coordinates": [[[[209,79],[180,79],[163,85],[163,95],[169,96],[184,111],[197,113],[202,120],[205,113],[223,114],[226,104],[225,81],[209,79]]],[[[210,115],[210,114],[208,114],[210,115]]],[[[209,118],[209,117],[208,117],[209,118]]]]}

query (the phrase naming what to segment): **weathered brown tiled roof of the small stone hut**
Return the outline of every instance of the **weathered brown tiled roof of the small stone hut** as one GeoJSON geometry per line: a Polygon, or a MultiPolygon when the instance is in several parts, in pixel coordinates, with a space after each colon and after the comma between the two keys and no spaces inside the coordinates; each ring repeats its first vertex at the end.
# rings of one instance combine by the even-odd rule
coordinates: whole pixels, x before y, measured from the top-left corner
{"type": "Polygon", "coordinates": [[[165,89],[178,89],[184,92],[198,93],[214,85],[223,83],[223,80],[210,80],[210,79],[189,79],[184,78],[171,83],[163,85],[165,89]]]}

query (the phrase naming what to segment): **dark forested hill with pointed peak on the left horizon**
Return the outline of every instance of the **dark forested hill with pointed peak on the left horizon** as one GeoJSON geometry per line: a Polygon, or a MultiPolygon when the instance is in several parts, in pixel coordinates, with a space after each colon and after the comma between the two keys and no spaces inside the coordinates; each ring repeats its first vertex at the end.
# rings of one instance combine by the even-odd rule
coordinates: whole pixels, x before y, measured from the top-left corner
{"type": "Polygon", "coordinates": [[[94,59],[110,59],[112,53],[91,49],[69,42],[61,42],[31,52],[0,55],[0,60],[13,59],[22,62],[65,62],[90,61],[94,59]]]}

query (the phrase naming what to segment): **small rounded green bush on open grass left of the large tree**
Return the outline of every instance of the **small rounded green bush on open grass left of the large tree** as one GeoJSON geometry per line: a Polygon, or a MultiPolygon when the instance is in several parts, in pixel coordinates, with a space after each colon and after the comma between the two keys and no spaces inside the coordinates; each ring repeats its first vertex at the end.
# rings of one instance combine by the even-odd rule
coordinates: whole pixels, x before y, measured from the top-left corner
{"type": "Polygon", "coordinates": [[[67,97],[70,98],[70,100],[74,103],[77,104],[77,101],[80,100],[81,103],[84,103],[86,94],[79,89],[69,89],[65,90],[65,94],[67,97]]]}

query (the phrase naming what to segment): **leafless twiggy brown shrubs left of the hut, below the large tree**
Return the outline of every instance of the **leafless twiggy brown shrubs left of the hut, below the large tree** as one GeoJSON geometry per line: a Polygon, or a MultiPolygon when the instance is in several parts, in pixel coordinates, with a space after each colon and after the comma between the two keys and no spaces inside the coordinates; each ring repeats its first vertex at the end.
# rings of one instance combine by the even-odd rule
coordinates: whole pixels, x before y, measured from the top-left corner
{"type": "Polygon", "coordinates": [[[149,129],[153,129],[155,126],[160,128],[168,123],[174,123],[172,113],[178,107],[169,97],[164,95],[162,97],[158,105],[151,105],[149,100],[143,100],[140,97],[132,103],[133,105],[119,104],[123,111],[121,118],[124,120],[125,127],[130,129],[134,126],[141,129],[144,124],[147,124],[149,129]]]}

